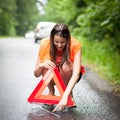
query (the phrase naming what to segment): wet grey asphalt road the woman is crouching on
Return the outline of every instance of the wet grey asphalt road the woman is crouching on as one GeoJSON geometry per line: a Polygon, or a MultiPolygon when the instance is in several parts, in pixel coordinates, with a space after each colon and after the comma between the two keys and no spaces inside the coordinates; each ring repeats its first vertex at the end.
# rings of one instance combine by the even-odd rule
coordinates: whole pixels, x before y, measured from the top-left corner
{"type": "Polygon", "coordinates": [[[38,49],[33,40],[0,39],[0,120],[120,120],[120,96],[87,67],[74,88],[77,108],[53,114],[28,103],[40,80],[33,75],[38,49]]]}

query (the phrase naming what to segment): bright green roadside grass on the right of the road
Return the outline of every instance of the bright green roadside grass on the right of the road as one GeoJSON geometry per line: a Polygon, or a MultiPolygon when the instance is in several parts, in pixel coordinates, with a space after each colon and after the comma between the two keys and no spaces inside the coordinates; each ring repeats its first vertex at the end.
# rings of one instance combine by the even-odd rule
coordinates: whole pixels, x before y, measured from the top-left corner
{"type": "Polygon", "coordinates": [[[97,71],[114,85],[114,92],[120,92],[120,54],[113,51],[108,40],[89,41],[78,37],[82,43],[82,62],[97,71]]]}

